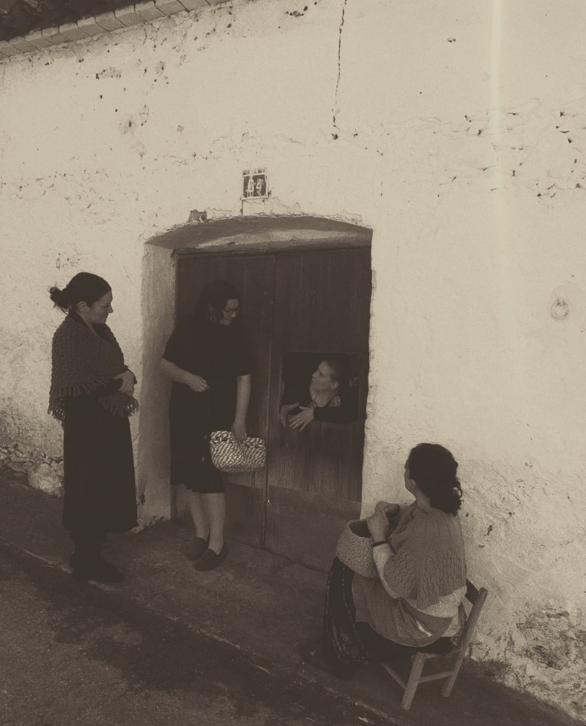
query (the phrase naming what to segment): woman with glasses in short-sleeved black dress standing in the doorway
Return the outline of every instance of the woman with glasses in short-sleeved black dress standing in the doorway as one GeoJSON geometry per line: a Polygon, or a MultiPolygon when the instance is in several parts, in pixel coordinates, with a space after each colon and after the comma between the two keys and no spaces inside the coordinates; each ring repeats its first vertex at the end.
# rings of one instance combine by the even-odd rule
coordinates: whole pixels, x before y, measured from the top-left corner
{"type": "Polygon", "coordinates": [[[195,537],[185,549],[199,571],[217,567],[224,542],[225,487],[209,453],[211,431],[246,439],[252,352],[241,324],[241,295],[225,280],[210,283],[195,312],[182,319],[163,354],[169,401],[171,484],[183,485],[195,537]]]}

